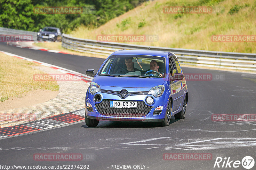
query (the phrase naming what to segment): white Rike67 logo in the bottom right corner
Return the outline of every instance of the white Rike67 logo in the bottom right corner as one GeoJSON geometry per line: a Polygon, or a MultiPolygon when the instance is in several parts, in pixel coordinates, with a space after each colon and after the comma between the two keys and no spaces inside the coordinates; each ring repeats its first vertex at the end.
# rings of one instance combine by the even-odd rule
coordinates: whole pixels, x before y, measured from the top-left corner
{"type": "Polygon", "coordinates": [[[222,159],[221,157],[217,157],[214,163],[214,168],[218,167],[218,168],[238,168],[241,165],[245,168],[245,169],[251,169],[254,166],[254,159],[251,156],[245,156],[242,161],[240,160],[230,160],[230,157],[225,157],[224,159],[222,159]]]}

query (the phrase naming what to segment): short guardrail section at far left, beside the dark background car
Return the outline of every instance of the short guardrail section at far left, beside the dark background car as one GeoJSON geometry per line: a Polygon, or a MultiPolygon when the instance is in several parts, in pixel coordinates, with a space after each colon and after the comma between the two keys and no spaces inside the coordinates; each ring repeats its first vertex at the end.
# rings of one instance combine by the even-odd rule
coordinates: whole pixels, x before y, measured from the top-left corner
{"type": "MultiPolygon", "coordinates": [[[[33,41],[36,41],[37,32],[15,30],[11,28],[0,27],[0,36],[16,36],[16,35],[30,35],[33,41]]],[[[30,40],[30,39],[29,39],[30,40]]]]}

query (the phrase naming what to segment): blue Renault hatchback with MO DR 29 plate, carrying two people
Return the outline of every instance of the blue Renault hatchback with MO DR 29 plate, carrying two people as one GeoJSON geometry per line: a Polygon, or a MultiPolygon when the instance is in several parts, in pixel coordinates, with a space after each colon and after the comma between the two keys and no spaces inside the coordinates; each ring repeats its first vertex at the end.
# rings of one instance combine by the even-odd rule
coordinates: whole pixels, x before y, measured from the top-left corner
{"type": "Polygon", "coordinates": [[[120,50],[112,53],[86,93],[85,123],[99,120],[158,122],[168,126],[171,116],[184,119],[188,88],[174,53],[120,50]]]}

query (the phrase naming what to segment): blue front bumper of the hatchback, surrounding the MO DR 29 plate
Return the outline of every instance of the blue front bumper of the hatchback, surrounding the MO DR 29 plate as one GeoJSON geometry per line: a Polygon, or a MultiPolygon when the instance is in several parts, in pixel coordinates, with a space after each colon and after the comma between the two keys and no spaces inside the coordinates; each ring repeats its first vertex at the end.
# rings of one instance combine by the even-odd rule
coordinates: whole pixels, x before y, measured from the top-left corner
{"type": "Polygon", "coordinates": [[[165,98],[165,94],[157,98],[152,95],[143,94],[128,96],[122,99],[118,95],[102,92],[92,95],[89,93],[89,90],[87,90],[85,98],[85,114],[88,118],[98,120],[161,122],[164,120],[168,103],[168,97],[167,100],[165,98]],[[95,102],[93,99],[96,94],[101,96],[99,102],[95,102]],[[154,99],[154,102],[151,105],[145,102],[148,96],[151,96],[154,99]],[[138,105],[137,109],[110,108],[110,101],[137,101],[138,105]],[[90,103],[92,108],[87,108],[87,103],[90,103]],[[154,113],[154,111],[158,106],[163,106],[163,110],[156,115],[156,112],[154,113]]]}

